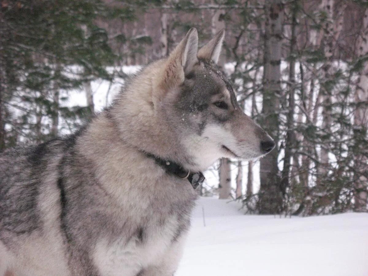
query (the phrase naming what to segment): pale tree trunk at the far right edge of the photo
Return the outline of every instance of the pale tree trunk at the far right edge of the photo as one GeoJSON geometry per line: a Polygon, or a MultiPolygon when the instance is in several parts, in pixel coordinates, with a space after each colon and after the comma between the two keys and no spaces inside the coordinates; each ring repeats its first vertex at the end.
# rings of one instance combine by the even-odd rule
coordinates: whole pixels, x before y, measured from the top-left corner
{"type": "MultiPolygon", "coordinates": [[[[368,54],[368,9],[365,10],[362,26],[362,34],[357,43],[358,56],[362,57],[368,54]]],[[[357,157],[355,162],[355,210],[367,211],[367,164],[368,164],[368,63],[363,64],[360,71],[358,84],[355,89],[355,103],[358,106],[354,112],[354,131],[357,145],[357,157]]]]}

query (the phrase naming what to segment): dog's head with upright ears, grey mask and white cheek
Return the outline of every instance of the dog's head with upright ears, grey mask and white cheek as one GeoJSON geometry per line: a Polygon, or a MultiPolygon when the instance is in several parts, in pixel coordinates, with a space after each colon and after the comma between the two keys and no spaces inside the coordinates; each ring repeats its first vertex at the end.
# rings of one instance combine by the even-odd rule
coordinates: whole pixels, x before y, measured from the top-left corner
{"type": "Polygon", "coordinates": [[[216,65],[224,31],[198,51],[195,28],[163,61],[153,95],[155,112],[174,131],[198,169],[221,157],[250,160],[275,147],[272,138],[237,103],[226,75],[216,65]]]}

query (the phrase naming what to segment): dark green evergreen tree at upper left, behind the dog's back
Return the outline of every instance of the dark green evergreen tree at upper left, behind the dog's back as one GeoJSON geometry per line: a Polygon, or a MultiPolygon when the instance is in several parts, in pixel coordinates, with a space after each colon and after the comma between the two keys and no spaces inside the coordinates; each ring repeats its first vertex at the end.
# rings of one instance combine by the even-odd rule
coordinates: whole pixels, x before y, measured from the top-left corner
{"type": "Polygon", "coordinates": [[[61,107],[61,91],[110,78],[106,66],[115,56],[96,20],[116,17],[132,19],[100,0],[1,3],[1,148],[45,141],[61,119],[74,124],[89,116],[85,107],[61,107]]]}

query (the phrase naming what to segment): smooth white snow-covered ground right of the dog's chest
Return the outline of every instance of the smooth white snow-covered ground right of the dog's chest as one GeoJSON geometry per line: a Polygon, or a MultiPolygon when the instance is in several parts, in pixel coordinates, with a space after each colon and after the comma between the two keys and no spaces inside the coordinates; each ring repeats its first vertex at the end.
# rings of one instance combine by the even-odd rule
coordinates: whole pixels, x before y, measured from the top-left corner
{"type": "Polygon", "coordinates": [[[176,276],[368,276],[367,213],[280,218],[226,202],[198,201],[176,276]]]}

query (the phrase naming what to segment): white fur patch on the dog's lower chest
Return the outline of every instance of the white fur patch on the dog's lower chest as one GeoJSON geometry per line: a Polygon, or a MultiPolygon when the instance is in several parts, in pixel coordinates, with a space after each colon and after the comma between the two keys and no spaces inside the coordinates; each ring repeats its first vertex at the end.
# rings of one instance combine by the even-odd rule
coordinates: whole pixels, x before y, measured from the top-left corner
{"type": "MultiPolygon", "coordinates": [[[[101,240],[96,245],[93,256],[95,265],[101,275],[106,276],[135,276],[142,269],[159,267],[163,265],[167,254],[181,255],[181,250],[171,250],[178,247],[178,241],[175,240],[178,227],[180,226],[175,215],[167,219],[164,225],[148,225],[142,233],[134,234],[130,238],[101,240]]],[[[168,259],[178,258],[169,256],[168,259]]]]}

